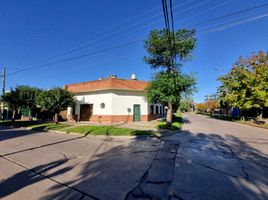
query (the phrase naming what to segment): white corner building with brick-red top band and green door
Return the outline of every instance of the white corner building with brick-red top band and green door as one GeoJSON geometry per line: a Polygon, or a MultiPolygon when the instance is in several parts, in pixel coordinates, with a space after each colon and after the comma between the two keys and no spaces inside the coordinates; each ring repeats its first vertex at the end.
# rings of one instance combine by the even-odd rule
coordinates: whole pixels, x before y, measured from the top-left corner
{"type": "Polygon", "coordinates": [[[68,120],[99,123],[150,121],[164,115],[164,107],[151,105],[145,98],[148,82],[119,79],[115,75],[106,79],[65,85],[76,98],[74,108],[68,108],[68,120]]]}

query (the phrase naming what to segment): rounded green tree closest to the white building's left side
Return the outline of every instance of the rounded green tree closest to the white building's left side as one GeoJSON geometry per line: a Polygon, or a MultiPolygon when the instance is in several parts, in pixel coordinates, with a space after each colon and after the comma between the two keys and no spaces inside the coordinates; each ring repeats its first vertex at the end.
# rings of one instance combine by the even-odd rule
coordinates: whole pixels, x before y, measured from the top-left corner
{"type": "Polygon", "coordinates": [[[50,111],[54,114],[55,123],[58,123],[59,113],[75,103],[74,95],[62,88],[41,92],[37,97],[37,102],[42,110],[50,111]]]}

